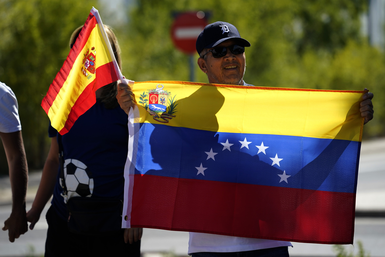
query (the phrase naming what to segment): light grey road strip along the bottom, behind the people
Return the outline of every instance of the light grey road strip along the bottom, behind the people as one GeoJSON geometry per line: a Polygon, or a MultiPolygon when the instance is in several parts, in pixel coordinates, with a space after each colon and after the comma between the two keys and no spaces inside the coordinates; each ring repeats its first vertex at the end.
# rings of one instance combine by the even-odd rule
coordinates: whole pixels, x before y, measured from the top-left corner
{"type": "MultiPolygon", "coordinates": [[[[45,208],[44,212],[48,210],[45,208]]],[[[10,206],[0,207],[0,220],[5,220],[11,211],[10,206]]],[[[41,218],[33,230],[28,231],[14,243],[8,241],[8,234],[0,230],[0,256],[25,256],[33,252],[44,253],[44,242],[47,233],[45,218],[41,218]],[[31,250],[33,247],[33,251],[31,250]]],[[[385,218],[356,218],[355,242],[361,240],[364,248],[372,257],[385,256],[385,218]]],[[[184,256],[187,253],[188,233],[145,228],[142,238],[144,255],[156,256],[159,252],[174,252],[184,256]]],[[[290,256],[335,256],[331,245],[293,243],[289,249],[290,256]]],[[[352,245],[347,249],[353,250],[352,245]]],[[[358,247],[355,247],[357,254],[358,247]]],[[[160,255],[159,255],[160,256],[160,255]]]]}

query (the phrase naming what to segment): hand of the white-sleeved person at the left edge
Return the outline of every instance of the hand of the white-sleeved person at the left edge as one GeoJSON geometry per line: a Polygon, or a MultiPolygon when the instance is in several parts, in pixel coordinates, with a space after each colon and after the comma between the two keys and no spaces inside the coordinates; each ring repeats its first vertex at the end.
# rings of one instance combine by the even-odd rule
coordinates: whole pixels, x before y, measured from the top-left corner
{"type": "Polygon", "coordinates": [[[11,216],[4,222],[3,230],[8,230],[10,242],[15,242],[16,238],[28,231],[25,207],[22,210],[12,211],[11,216]]]}

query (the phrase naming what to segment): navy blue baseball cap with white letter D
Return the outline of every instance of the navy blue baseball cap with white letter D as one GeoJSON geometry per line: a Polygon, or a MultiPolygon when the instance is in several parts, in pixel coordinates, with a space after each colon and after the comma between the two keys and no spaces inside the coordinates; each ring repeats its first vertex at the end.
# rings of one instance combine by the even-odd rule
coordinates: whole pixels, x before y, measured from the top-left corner
{"type": "Polygon", "coordinates": [[[207,25],[196,39],[196,51],[201,54],[204,48],[212,48],[228,39],[237,40],[240,46],[249,47],[250,43],[241,38],[237,28],[228,22],[214,22],[207,25]]]}

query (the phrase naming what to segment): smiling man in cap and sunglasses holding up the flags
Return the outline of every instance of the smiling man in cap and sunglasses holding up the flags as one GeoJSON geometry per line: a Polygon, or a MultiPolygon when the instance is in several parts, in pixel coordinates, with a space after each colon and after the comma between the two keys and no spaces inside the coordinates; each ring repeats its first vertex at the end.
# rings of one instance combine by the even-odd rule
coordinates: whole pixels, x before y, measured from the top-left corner
{"type": "MultiPolygon", "coordinates": [[[[249,46],[249,42],[240,37],[232,24],[226,22],[209,24],[196,42],[196,49],[200,55],[199,68],[207,74],[211,84],[252,86],[243,81],[246,67],[244,47],[249,46]]],[[[372,98],[373,94],[367,92],[360,102],[364,124],[373,119],[372,98]]],[[[117,99],[127,114],[135,105],[132,90],[125,84],[118,85],[117,99]]],[[[198,167],[197,169],[199,171],[198,167]]],[[[287,241],[190,232],[188,253],[193,257],[288,256],[288,246],[291,246],[291,243],[287,241]]]]}

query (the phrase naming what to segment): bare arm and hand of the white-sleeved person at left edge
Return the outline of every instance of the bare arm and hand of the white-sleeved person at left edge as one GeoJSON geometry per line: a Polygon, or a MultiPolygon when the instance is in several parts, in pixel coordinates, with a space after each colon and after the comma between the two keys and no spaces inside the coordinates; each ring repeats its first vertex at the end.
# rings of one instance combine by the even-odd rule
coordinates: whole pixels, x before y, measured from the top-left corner
{"type": "Polygon", "coordinates": [[[28,231],[25,213],[25,195],[27,193],[28,166],[25,158],[22,132],[0,132],[5,154],[7,155],[9,178],[12,188],[12,213],[4,222],[3,230],[8,230],[10,242],[28,231]]]}

